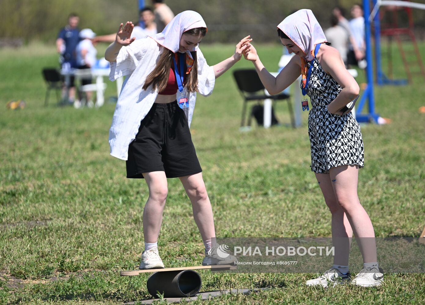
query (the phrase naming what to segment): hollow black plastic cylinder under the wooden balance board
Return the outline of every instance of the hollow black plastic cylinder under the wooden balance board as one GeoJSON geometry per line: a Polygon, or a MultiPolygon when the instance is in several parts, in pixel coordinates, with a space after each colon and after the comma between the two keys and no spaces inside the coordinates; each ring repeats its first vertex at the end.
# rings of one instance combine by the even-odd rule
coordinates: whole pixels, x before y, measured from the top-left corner
{"type": "Polygon", "coordinates": [[[193,297],[201,289],[201,277],[193,270],[183,271],[158,271],[148,277],[147,291],[158,297],[193,297]]]}

